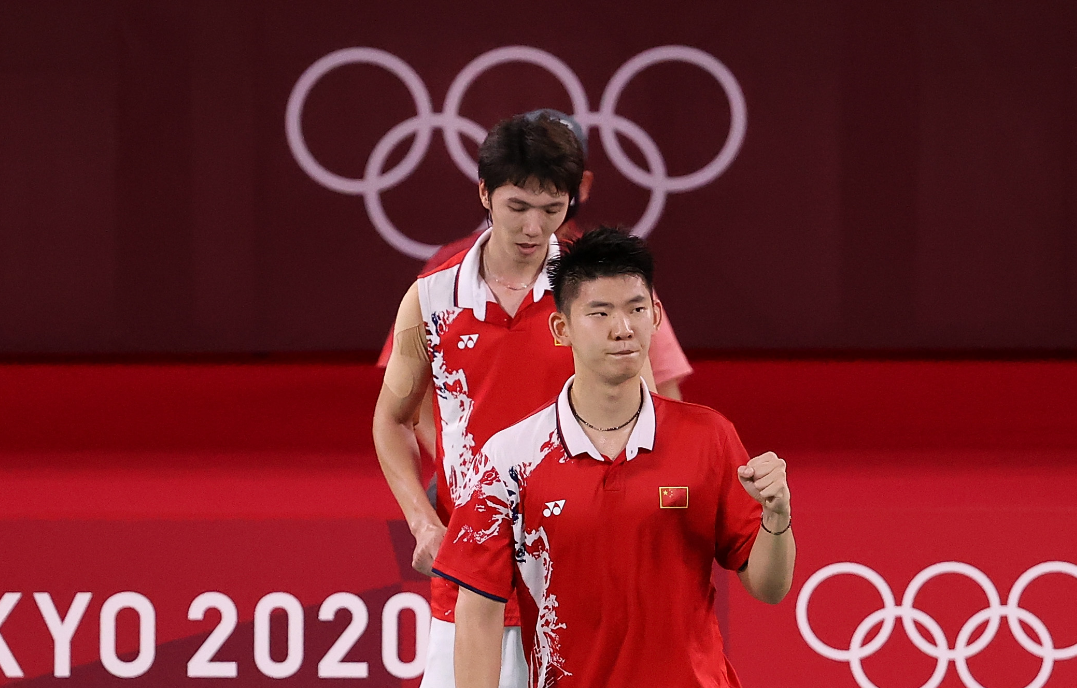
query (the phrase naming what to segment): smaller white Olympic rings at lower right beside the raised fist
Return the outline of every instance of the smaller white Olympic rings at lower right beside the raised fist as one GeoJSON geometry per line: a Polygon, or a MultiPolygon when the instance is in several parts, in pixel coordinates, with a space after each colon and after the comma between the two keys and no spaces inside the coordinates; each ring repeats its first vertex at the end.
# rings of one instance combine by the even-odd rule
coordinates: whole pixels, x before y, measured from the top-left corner
{"type": "Polygon", "coordinates": [[[917,574],[909,582],[909,587],[906,588],[905,595],[901,598],[901,604],[897,605],[894,603],[893,591],[881,575],[864,564],[840,562],[824,566],[805,582],[797,598],[797,627],[800,630],[800,635],[803,636],[813,650],[827,659],[849,662],[853,678],[861,688],[878,688],[864,672],[863,661],[878,651],[890,640],[891,632],[894,630],[894,621],[900,618],[901,627],[905,629],[905,633],[909,636],[909,640],[912,641],[912,644],[920,651],[937,660],[934,673],[932,673],[931,678],[921,688],[938,688],[946,676],[951,661],[956,665],[957,674],[967,688],[983,688],[969,671],[968,660],[991,644],[995,638],[995,633],[998,631],[1002,618],[1006,617],[1010,633],[1013,634],[1018,644],[1043,660],[1036,677],[1025,688],[1043,688],[1047,684],[1047,679],[1050,678],[1054,662],[1077,657],[1077,643],[1068,647],[1055,648],[1054,641],[1043,620],[1020,606],[1021,595],[1024,593],[1025,588],[1036,578],[1049,573],[1066,574],[1077,578],[1077,564],[1066,561],[1048,561],[1029,568],[1013,584],[1004,605],[998,595],[998,590],[982,571],[962,562],[941,562],[933,564],[917,574]],[[961,632],[957,633],[957,640],[954,642],[952,648],[938,621],[914,606],[917,594],[924,584],[943,574],[959,574],[970,578],[983,589],[989,603],[987,608],[977,612],[965,622],[961,632]],[[869,614],[861,621],[859,626],[853,632],[849,649],[844,650],[830,647],[821,641],[808,621],[808,602],[815,588],[824,580],[841,575],[864,578],[875,586],[883,602],[883,608],[869,614]],[[1029,637],[1024,629],[1021,628],[1020,621],[1027,623],[1035,631],[1039,637],[1038,644],[1029,637]],[[935,641],[934,644],[921,635],[920,630],[915,626],[917,623],[927,629],[935,641]],[[969,643],[973,633],[984,623],[987,623],[987,629],[984,629],[983,634],[976,642],[969,643]],[[868,633],[879,624],[882,624],[879,634],[870,643],[865,644],[864,640],[868,633]]]}

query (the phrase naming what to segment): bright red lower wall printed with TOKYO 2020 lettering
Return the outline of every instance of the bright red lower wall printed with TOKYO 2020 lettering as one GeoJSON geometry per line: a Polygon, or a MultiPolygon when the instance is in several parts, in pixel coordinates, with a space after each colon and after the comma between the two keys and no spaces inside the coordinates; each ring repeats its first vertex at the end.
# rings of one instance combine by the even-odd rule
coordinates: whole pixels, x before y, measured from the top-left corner
{"type": "MultiPolygon", "coordinates": [[[[275,662],[303,648],[279,683],[312,685],[351,623],[351,610],[321,618],[344,592],[367,613],[345,657],[366,662],[363,685],[417,685],[406,677],[421,671],[408,664],[425,617],[414,594],[429,584],[410,568],[414,542],[373,453],[379,384],[362,365],[0,366],[0,617],[12,605],[0,618],[0,683],[15,683],[6,647],[30,686],[262,686],[276,670],[257,659],[261,632],[275,662]],[[232,678],[196,678],[206,665],[191,668],[199,648],[218,647],[209,637],[221,614],[191,618],[207,592],[236,606],[210,658],[236,662],[232,678]],[[61,678],[56,647],[67,645],[53,641],[41,605],[68,618],[76,593],[90,596],[70,627],[71,678],[61,678]],[[136,612],[104,613],[122,593],[155,614],[152,661],[132,678],[102,662],[101,628],[113,619],[108,651],[124,662],[149,651],[139,652],[149,635],[136,612]],[[298,609],[291,644],[283,612],[257,612],[274,593],[298,609]]],[[[789,595],[769,607],[717,577],[719,620],[747,688],[921,686],[938,666],[936,688],[1077,683],[1077,365],[715,361],[699,363],[686,387],[733,421],[750,452],[774,449],[789,466],[789,595]],[[947,562],[980,579],[940,571],[947,562]],[[836,564],[875,572],[895,603],[864,575],[829,576],[836,564]],[[1054,570],[1034,575],[1040,564],[1054,570]],[[922,573],[910,608],[926,615],[913,620],[927,650],[896,610],[922,573]],[[896,626],[879,635],[884,619],[869,617],[883,612],[896,626]],[[994,630],[990,616],[974,623],[981,612],[994,630]],[[1024,646],[1011,617],[1025,623],[1024,646]],[[865,623],[862,645],[883,638],[857,652],[867,682],[807,640],[848,652],[865,623]],[[966,641],[980,647],[953,650],[969,623],[966,641]]]]}

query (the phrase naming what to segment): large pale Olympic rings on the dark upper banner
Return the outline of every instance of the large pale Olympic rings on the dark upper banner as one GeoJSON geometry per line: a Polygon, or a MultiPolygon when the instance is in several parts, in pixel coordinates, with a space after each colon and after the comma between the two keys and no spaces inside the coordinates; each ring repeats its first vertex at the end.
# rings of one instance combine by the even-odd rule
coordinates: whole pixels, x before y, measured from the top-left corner
{"type": "Polygon", "coordinates": [[[662,45],[646,50],[621,65],[606,84],[602,93],[599,110],[591,112],[587,94],[575,72],[557,56],[546,51],[527,45],[509,45],[484,53],[465,66],[449,86],[445,96],[445,107],[440,113],[434,112],[430,92],[422,79],[410,65],[401,58],[375,47],[348,47],[335,51],[314,61],[303,72],[288,99],[284,114],[284,130],[289,148],[299,167],[316,182],[332,191],[361,195],[366,212],[378,234],[397,251],[415,258],[432,256],[438,245],[423,243],[406,236],[397,229],[386,214],[381,205],[381,192],[392,188],[407,179],[426,155],[433,131],[440,128],[452,162],[461,172],[478,182],[478,164],[467,155],[461,135],[466,135],[476,143],[486,138],[486,129],[460,115],[460,103],[472,83],[486,70],[507,62],[526,62],[544,68],[564,86],[572,102],[572,116],[587,130],[598,128],[602,145],[613,165],[632,183],[651,191],[651,199],[643,215],[632,228],[639,237],[646,237],[654,229],[666,206],[666,196],[671,193],[693,191],[717,179],[737,157],[744,134],[747,130],[747,106],[744,94],[732,72],[717,58],[703,51],[687,45],[662,45]],[[617,101],[628,83],[644,69],[666,61],[688,62],[710,73],[725,90],[729,101],[729,134],[718,154],[705,166],[681,177],[670,177],[666,171],[666,160],[654,139],[639,125],[618,115],[617,101]],[[303,108],[314,85],[328,72],[345,65],[374,65],[395,74],[415,100],[416,115],[390,129],[374,146],[367,158],[363,177],[344,177],[330,171],[319,163],[303,136],[303,108]],[[640,149],[648,169],[642,169],[625,153],[617,135],[628,138],[640,149]],[[404,158],[391,170],[386,171],[386,162],[392,151],[406,138],[414,136],[411,148],[404,158]]]}

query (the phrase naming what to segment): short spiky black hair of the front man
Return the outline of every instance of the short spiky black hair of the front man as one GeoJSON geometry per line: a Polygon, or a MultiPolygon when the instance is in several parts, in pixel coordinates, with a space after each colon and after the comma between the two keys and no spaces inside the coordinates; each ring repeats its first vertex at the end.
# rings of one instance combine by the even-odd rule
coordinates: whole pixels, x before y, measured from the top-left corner
{"type": "Polygon", "coordinates": [[[635,275],[654,291],[655,258],[643,239],[616,227],[597,227],[561,247],[546,267],[557,310],[569,312],[584,282],[635,275]]]}

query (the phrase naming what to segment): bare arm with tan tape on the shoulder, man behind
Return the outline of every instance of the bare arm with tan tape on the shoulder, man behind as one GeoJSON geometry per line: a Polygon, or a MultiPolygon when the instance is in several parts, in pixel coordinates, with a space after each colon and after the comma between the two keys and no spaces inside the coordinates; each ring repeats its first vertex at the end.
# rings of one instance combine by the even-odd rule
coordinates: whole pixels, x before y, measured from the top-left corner
{"type": "Polygon", "coordinates": [[[418,339],[422,332],[418,285],[412,284],[396,314],[393,352],[374,408],[374,446],[389,489],[416,539],[411,565],[429,576],[445,526],[426,499],[414,427],[431,379],[430,361],[418,339]]]}

